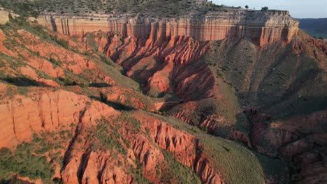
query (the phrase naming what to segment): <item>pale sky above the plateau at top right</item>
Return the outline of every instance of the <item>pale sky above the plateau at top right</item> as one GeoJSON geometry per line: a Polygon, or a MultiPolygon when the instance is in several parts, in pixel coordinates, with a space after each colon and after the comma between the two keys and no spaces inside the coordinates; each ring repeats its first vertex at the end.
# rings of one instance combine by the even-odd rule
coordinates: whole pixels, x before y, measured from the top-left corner
{"type": "Polygon", "coordinates": [[[249,8],[261,10],[268,6],[269,9],[289,10],[295,18],[327,18],[327,0],[212,0],[215,4],[226,6],[247,5],[249,8]]]}

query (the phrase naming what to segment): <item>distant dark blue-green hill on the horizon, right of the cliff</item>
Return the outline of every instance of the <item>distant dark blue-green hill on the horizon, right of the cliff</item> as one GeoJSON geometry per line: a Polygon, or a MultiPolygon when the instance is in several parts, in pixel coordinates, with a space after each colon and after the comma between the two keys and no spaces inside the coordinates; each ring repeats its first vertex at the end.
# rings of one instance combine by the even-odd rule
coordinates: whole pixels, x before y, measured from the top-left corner
{"type": "Polygon", "coordinates": [[[300,22],[300,28],[317,38],[327,39],[327,18],[324,19],[296,19],[300,22]]]}

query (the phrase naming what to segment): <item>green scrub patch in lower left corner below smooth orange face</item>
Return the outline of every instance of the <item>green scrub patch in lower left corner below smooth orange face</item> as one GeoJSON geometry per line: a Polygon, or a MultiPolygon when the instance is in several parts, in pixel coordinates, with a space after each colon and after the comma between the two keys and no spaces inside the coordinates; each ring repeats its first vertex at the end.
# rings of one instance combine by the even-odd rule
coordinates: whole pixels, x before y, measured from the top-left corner
{"type": "MultiPolygon", "coordinates": [[[[71,127],[73,128],[73,126],[71,127]]],[[[73,137],[71,130],[59,132],[41,132],[34,134],[33,139],[27,143],[18,144],[15,150],[2,148],[0,150],[0,181],[8,180],[11,174],[31,179],[41,178],[49,183],[54,174],[54,165],[62,166],[64,158],[61,156],[64,144],[68,146],[73,137]],[[48,162],[48,160],[51,162],[48,162]]]]}

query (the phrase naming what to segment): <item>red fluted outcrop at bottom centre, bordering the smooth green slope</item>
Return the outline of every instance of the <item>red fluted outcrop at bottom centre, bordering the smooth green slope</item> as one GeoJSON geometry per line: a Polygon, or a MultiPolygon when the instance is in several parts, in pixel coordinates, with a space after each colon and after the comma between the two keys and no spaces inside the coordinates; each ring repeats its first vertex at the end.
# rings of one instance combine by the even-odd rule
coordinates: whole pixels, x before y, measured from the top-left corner
{"type": "Polygon", "coordinates": [[[169,151],[175,160],[190,167],[203,183],[224,183],[219,171],[212,167],[207,155],[201,151],[201,143],[187,132],[176,130],[172,126],[158,121],[157,118],[138,113],[136,118],[150,130],[150,138],[160,148],[169,151]]]}

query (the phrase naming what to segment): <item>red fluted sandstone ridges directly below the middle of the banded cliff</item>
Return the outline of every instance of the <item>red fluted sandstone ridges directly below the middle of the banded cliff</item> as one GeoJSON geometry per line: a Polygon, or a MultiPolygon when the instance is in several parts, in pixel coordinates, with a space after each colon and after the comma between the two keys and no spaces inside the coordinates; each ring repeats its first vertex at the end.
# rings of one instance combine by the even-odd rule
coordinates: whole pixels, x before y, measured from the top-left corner
{"type": "Polygon", "coordinates": [[[99,47],[119,63],[129,77],[143,83],[149,95],[175,92],[184,100],[213,95],[215,77],[198,61],[208,49],[207,42],[200,43],[187,36],[166,38],[162,31],[155,29],[147,40],[135,36],[123,39],[117,33],[108,33],[106,43],[101,40],[102,34],[89,36],[98,40],[99,47]]]}

